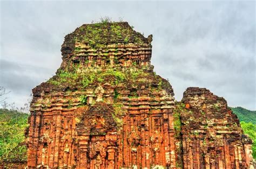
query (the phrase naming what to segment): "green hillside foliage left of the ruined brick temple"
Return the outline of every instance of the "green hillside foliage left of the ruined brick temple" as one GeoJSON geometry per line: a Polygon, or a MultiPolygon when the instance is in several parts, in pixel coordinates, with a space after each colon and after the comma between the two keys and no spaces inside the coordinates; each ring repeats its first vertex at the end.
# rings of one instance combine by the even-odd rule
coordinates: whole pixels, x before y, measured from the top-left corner
{"type": "Polygon", "coordinates": [[[0,163],[26,161],[24,131],[28,127],[28,117],[25,113],[0,109],[0,163]]]}

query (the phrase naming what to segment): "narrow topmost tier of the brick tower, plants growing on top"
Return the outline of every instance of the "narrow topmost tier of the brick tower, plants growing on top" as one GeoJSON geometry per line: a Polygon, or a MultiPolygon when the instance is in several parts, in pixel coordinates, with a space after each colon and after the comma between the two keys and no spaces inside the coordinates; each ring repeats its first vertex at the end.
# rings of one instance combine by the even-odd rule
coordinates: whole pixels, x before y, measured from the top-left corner
{"type": "Polygon", "coordinates": [[[145,38],[127,22],[84,24],[65,37],[64,67],[150,65],[152,35],[145,38]]]}

